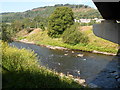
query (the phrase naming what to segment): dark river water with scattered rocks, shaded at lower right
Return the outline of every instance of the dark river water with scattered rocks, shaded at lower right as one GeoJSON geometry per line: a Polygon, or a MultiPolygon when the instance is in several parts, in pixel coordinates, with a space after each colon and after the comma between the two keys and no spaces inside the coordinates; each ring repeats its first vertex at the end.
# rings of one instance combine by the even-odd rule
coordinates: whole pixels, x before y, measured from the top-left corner
{"type": "Polygon", "coordinates": [[[45,47],[12,42],[11,46],[31,49],[39,58],[39,63],[47,68],[54,69],[64,74],[72,74],[86,80],[88,85],[102,88],[115,88],[120,80],[118,69],[120,57],[93,54],[71,50],[51,50],[45,47]],[[83,54],[83,57],[76,57],[83,54]]]}

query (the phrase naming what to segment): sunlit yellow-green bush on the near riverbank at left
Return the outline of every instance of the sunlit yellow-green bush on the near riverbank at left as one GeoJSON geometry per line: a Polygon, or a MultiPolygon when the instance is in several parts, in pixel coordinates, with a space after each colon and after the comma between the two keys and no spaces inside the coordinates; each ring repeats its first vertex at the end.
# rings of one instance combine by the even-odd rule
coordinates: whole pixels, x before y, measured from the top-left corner
{"type": "Polygon", "coordinates": [[[25,71],[36,66],[36,54],[34,52],[12,48],[7,43],[2,44],[2,66],[7,71],[25,71]]]}

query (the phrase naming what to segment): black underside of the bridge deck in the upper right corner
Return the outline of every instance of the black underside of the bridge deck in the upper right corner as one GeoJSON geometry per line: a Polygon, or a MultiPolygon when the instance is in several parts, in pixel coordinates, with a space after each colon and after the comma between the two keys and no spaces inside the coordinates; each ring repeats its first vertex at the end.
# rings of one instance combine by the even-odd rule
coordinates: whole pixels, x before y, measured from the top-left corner
{"type": "Polygon", "coordinates": [[[93,0],[102,17],[120,21],[120,0],[93,0]]]}

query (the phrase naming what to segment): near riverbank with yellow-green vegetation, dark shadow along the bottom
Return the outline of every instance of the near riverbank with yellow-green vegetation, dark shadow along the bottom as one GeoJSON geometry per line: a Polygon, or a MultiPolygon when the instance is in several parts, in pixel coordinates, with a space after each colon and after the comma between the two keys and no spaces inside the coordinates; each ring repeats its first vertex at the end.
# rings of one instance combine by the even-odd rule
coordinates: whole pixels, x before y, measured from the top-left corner
{"type": "Polygon", "coordinates": [[[39,66],[32,51],[2,43],[2,88],[83,88],[70,76],[39,66]]]}

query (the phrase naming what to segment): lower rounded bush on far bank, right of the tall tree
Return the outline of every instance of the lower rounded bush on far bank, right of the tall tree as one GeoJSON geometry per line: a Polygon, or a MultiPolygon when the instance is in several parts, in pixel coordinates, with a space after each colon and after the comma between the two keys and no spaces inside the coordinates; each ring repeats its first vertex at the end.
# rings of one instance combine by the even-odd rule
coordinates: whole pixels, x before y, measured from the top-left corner
{"type": "Polygon", "coordinates": [[[62,35],[62,40],[64,43],[76,45],[78,43],[88,43],[88,37],[83,35],[80,31],[77,30],[76,25],[72,25],[68,28],[62,35]]]}

